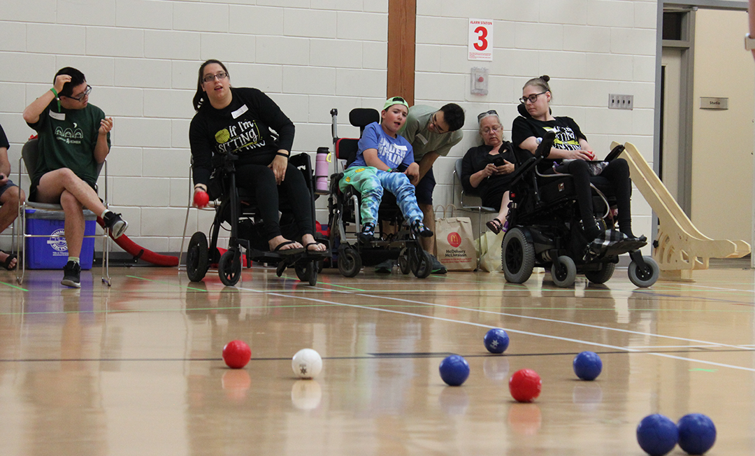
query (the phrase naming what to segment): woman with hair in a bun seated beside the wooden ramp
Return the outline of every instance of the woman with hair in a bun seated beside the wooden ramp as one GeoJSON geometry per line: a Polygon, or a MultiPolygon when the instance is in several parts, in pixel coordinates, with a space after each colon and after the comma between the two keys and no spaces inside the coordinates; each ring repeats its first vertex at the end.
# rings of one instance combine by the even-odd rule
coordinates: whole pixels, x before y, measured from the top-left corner
{"type": "Polygon", "coordinates": [[[526,109],[526,116],[522,115],[514,119],[511,128],[512,142],[520,149],[534,154],[538,148],[538,138],[543,137],[546,131],[554,131],[556,140],[553,141],[547,160],[541,162],[540,171],[542,174],[572,175],[587,239],[606,236],[606,232],[600,228],[593,215],[593,198],[590,189],[590,176],[599,174],[612,184],[618,209],[619,231],[627,238],[624,240],[644,245],[645,236],[638,239],[632,233],[631,181],[627,162],[624,159],[614,159],[602,168],[602,171],[597,168],[599,172],[596,172],[595,167],[591,171],[588,162],[595,159],[595,153],[590,143],[587,143],[587,137],[582,134],[572,118],[551,115],[552,94],[548,85],[549,81],[550,77],[543,75],[530,79],[522,88],[522,98],[519,101],[526,109]]]}

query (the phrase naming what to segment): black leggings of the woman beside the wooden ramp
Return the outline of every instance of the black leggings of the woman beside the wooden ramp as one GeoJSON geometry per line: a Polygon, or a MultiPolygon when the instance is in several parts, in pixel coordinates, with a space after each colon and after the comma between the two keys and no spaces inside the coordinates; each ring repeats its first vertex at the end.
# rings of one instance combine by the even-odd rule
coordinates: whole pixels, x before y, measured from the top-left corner
{"type": "MultiPolygon", "coordinates": [[[[590,171],[587,169],[587,162],[584,160],[575,160],[566,165],[559,165],[556,171],[572,174],[579,202],[579,212],[584,221],[585,230],[590,233],[593,231],[592,226],[595,225],[595,216],[593,215],[593,193],[590,189],[590,171]]],[[[618,208],[619,230],[627,236],[633,236],[630,203],[632,182],[629,179],[629,165],[627,165],[627,161],[624,159],[612,160],[600,173],[600,177],[605,177],[612,183],[614,196],[616,197],[616,207],[618,208]]]]}

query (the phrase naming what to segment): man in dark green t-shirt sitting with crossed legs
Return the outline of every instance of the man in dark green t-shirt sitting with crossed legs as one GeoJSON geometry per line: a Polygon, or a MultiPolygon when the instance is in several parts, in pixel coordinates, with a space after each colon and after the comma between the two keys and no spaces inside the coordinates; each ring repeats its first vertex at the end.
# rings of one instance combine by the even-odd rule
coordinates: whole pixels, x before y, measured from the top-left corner
{"type": "Polygon", "coordinates": [[[39,134],[29,201],[63,206],[68,262],[60,283],[73,288],[82,286],[82,209],[88,208],[102,217],[113,238],[121,236],[128,226],[121,214],[105,208],[94,191],[97,165],[110,152],[112,118],[89,104],[90,92],[84,73],[66,66],[55,75],[53,87],[23,110],[23,119],[39,134]]]}

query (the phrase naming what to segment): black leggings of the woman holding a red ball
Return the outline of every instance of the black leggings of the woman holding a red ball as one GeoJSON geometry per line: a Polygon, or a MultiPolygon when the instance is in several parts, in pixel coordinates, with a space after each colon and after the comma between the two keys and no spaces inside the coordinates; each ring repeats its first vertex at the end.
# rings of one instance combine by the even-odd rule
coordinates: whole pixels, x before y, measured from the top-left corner
{"type": "Polygon", "coordinates": [[[262,217],[266,239],[281,235],[279,199],[288,202],[296,221],[297,238],[313,234],[312,204],[307,182],[294,165],[289,164],[285,179],[278,185],[273,170],[267,165],[237,165],[236,186],[254,192],[262,217]]]}

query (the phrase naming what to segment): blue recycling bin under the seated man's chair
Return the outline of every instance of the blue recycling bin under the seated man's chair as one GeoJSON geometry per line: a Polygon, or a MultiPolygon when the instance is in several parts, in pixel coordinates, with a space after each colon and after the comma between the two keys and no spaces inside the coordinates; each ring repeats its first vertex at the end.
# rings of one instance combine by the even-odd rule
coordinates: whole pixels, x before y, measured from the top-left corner
{"type": "MultiPolygon", "coordinates": [[[[97,216],[84,211],[85,236],[94,236],[97,216]]],[[[65,222],[63,212],[26,209],[26,234],[45,236],[26,238],[26,267],[31,270],[63,269],[68,261],[68,244],[62,237],[65,222]]],[[[94,238],[84,238],[79,255],[82,270],[91,270],[94,260],[94,238]]]]}

